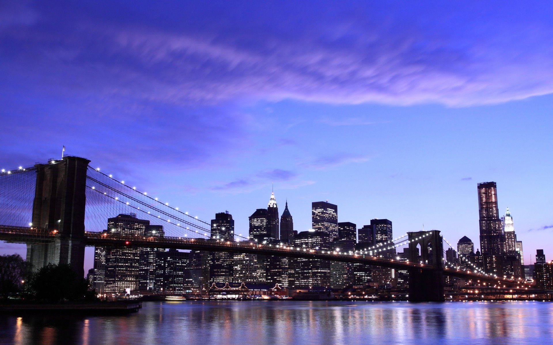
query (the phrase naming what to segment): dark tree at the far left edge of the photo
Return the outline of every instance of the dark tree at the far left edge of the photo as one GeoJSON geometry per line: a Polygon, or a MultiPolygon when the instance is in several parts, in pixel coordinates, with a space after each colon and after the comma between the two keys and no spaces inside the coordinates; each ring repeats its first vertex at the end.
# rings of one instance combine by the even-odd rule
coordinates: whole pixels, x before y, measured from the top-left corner
{"type": "Polygon", "coordinates": [[[19,254],[0,256],[0,296],[7,301],[21,291],[25,261],[19,254]]]}

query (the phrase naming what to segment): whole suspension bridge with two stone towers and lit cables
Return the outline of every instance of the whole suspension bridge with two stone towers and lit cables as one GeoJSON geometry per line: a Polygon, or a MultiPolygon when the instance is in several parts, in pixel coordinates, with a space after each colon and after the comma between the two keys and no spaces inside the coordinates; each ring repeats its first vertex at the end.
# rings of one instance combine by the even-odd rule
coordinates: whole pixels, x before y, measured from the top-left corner
{"type": "Polygon", "coordinates": [[[252,253],[361,263],[409,272],[410,301],[443,301],[444,276],[473,280],[488,288],[533,288],[520,278],[482,272],[462,258],[463,266],[445,259],[440,231],[415,231],[358,251],[320,250],[286,243],[258,243],[242,234],[234,241],[211,238],[209,223],[147,191],[90,165],[86,158],[2,169],[0,172],[0,240],[27,245],[27,264],[35,271],[49,263],[67,263],[84,275],[86,246],[151,247],[252,253]],[[134,213],[163,225],[164,236],[122,236],[106,229],[109,217],[134,213]],[[395,256],[404,248],[407,258],[395,256]],[[467,268],[470,267],[471,269],[467,268]]]}

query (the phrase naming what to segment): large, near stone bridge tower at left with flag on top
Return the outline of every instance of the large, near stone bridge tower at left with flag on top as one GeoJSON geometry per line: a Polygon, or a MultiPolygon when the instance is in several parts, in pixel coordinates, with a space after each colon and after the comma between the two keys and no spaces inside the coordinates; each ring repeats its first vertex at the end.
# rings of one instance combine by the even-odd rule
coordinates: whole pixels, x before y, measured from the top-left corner
{"type": "Polygon", "coordinates": [[[56,230],[54,241],[27,244],[27,269],[69,264],[84,277],[86,158],[66,156],[36,164],[32,227],[56,230]]]}

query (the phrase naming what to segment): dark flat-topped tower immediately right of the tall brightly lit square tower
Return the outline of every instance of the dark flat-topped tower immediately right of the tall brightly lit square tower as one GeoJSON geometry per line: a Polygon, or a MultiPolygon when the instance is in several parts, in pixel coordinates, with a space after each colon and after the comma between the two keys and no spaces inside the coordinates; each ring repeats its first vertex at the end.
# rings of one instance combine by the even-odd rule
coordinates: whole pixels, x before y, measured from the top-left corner
{"type": "MultiPolygon", "coordinates": [[[[338,223],[340,224],[340,223],[338,223]]],[[[356,225],[353,225],[353,235],[355,235],[356,225]]],[[[351,229],[351,225],[348,226],[351,229]]],[[[338,225],[338,236],[340,236],[340,225],[338,225]]],[[[330,249],[338,252],[350,252],[355,250],[355,240],[350,238],[332,241],[330,249]]],[[[331,261],[330,262],[330,286],[333,289],[343,289],[353,286],[355,283],[355,273],[353,263],[331,261]]]]}

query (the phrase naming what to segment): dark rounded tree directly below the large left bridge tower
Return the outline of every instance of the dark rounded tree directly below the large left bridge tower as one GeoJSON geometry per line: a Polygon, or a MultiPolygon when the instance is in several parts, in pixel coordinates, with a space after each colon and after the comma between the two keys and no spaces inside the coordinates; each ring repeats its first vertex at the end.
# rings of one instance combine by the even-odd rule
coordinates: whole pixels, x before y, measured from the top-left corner
{"type": "Polygon", "coordinates": [[[68,264],[48,264],[33,274],[28,292],[36,300],[50,302],[91,299],[93,293],[87,291],[87,285],[68,264]]]}

